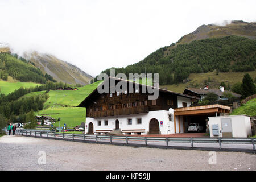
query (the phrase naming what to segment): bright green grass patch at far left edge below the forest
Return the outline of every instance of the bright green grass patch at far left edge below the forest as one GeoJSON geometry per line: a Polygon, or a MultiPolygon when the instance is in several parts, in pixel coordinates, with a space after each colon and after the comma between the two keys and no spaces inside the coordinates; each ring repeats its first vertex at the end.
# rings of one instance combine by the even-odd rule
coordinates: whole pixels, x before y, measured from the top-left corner
{"type": "Polygon", "coordinates": [[[22,86],[24,88],[30,88],[30,87],[35,87],[36,85],[40,86],[41,84],[35,84],[32,82],[9,82],[9,81],[0,80],[0,93],[7,95],[19,89],[22,86]]]}

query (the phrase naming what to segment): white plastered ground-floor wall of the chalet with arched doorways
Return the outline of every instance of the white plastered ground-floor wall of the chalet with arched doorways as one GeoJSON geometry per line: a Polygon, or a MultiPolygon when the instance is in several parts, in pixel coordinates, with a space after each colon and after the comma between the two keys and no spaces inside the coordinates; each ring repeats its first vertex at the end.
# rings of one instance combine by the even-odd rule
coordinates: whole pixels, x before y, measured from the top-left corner
{"type": "MultiPolygon", "coordinates": [[[[104,118],[86,118],[87,127],[85,127],[85,133],[88,133],[89,130],[89,123],[93,123],[93,130],[94,134],[96,130],[114,130],[115,129],[115,120],[118,119],[119,121],[119,129],[121,130],[137,130],[137,129],[145,129],[144,133],[141,133],[142,135],[147,134],[149,131],[149,123],[151,119],[157,119],[159,122],[159,128],[161,134],[172,134],[174,133],[174,118],[172,118],[172,121],[169,121],[168,119],[168,111],[166,110],[159,110],[159,111],[150,111],[148,113],[143,114],[130,114],[130,115],[121,115],[118,117],[104,117],[104,118]],[[132,119],[132,125],[127,124],[127,119],[132,119]],[[142,118],[142,123],[137,124],[136,118],[142,118]],[[101,120],[101,126],[98,126],[98,121],[101,120]],[[109,125],[105,126],[105,120],[108,120],[109,125]],[[160,125],[160,121],[163,121],[163,126],[160,125]]],[[[179,124],[178,124],[179,125],[179,124]]],[[[179,130],[177,130],[179,131],[179,130]]],[[[101,132],[108,132],[108,131],[101,131],[101,132]]],[[[126,131],[128,132],[141,132],[141,131],[126,131]]]]}

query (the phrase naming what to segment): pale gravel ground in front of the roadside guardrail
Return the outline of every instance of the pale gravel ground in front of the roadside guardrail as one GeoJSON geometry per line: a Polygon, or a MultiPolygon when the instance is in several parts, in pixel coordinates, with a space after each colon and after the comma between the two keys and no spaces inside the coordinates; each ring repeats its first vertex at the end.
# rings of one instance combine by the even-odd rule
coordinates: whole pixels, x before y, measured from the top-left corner
{"type": "Polygon", "coordinates": [[[90,144],[22,136],[0,138],[0,170],[256,170],[256,155],[90,144]],[[38,164],[39,151],[46,164],[38,164]]]}

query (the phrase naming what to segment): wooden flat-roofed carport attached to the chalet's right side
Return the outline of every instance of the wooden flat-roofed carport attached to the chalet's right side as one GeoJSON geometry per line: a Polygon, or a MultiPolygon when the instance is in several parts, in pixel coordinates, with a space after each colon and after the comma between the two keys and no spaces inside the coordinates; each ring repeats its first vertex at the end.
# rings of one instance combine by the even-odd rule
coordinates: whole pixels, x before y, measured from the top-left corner
{"type": "Polygon", "coordinates": [[[175,133],[187,133],[190,123],[199,123],[206,130],[208,117],[229,114],[230,107],[214,104],[193,107],[181,107],[174,112],[174,131],[175,133]]]}

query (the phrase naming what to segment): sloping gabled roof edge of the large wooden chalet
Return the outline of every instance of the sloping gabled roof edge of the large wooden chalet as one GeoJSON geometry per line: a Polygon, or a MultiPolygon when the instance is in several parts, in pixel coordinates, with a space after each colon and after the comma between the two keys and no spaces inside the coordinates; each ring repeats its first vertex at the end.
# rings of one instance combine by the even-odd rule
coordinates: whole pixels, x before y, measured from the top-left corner
{"type": "MultiPolygon", "coordinates": [[[[161,88],[156,88],[155,86],[150,86],[150,85],[139,84],[139,83],[137,83],[137,82],[133,82],[133,81],[129,81],[129,80],[123,80],[123,79],[121,79],[121,78],[116,78],[116,77],[111,77],[111,76],[109,76],[109,79],[114,79],[115,81],[131,82],[131,83],[133,83],[133,84],[142,85],[142,86],[147,86],[147,87],[150,87],[150,88],[153,88],[153,89],[158,89],[159,92],[171,93],[171,94],[176,94],[177,96],[183,96],[183,97],[187,97],[187,98],[193,98],[193,99],[195,99],[195,100],[200,100],[200,99],[197,98],[197,97],[189,96],[189,95],[187,95],[187,94],[172,92],[172,91],[170,91],[170,90],[161,89],[161,88]]],[[[100,87],[102,84],[104,84],[104,82],[105,82],[105,81],[102,81],[101,84],[98,85],[98,87],[100,87]]],[[[97,88],[98,88],[98,87],[97,87],[97,88]]],[[[88,101],[89,98],[92,97],[92,95],[93,95],[94,93],[97,92],[97,88],[94,89],[93,92],[90,93],[89,96],[86,97],[85,100],[82,101],[77,107],[82,107],[82,105],[84,105],[84,103],[85,103],[86,101],[88,101]]]]}

